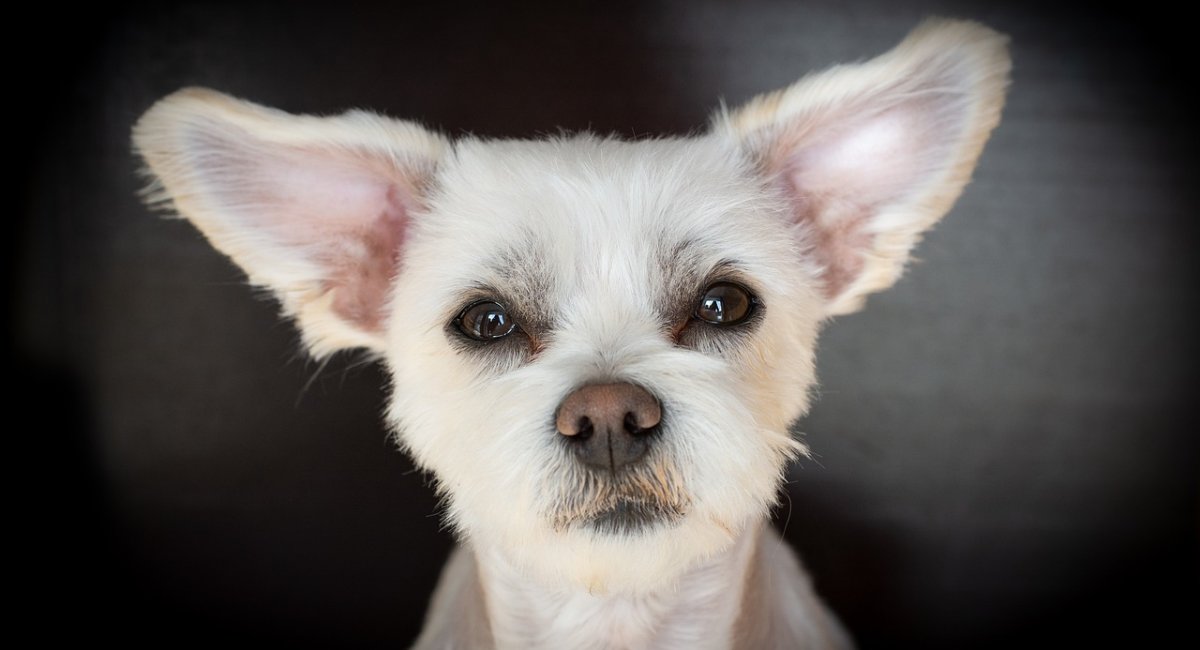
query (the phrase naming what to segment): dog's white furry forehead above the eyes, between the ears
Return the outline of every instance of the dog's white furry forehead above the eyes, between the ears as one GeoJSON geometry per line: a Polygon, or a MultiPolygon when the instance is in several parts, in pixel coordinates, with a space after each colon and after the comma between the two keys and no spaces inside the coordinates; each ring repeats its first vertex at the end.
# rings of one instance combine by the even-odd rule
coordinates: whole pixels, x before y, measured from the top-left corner
{"type": "Polygon", "coordinates": [[[422,236],[460,284],[649,300],[672,277],[761,253],[755,219],[773,221],[769,207],[716,138],[468,139],[439,173],[422,236]]]}

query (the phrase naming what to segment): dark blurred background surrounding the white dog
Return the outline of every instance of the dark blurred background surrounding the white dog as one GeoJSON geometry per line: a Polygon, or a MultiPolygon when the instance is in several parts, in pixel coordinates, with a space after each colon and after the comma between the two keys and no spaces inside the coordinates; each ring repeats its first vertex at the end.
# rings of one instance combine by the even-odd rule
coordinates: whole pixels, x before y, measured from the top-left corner
{"type": "MultiPolygon", "coordinates": [[[[1194,56],[1153,5],[182,4],[8,23],[12,620],[406,645],[451,543],[384,378],[148,212],[128,131],[208,85],[450,134],[682,134],[922,17],[1013,38],[976,181],[821,347],[779,524],[865,648],[1196,646],[1194,56]],[[18,38],[19,37],[19,38],[18,38]],[[1192,332],[1192,333],[1188,333],[1192,332]]],[[[55,13],[55,12],[59,13],[55,13]]]]}

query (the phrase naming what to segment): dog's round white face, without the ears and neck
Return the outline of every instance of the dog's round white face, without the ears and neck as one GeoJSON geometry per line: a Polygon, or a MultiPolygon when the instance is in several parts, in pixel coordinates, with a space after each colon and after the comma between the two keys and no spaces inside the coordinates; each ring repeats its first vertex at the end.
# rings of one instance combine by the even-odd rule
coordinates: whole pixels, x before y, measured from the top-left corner
{"type": "Polygon", "coordinates": [[[458,528],[600,589],[654,584],[761,517],[800,449],[787,425],[823,307],[778,197],[732,143],[466,142],[438,186],[470,192],[434,191],[415,219],[384,354],[390,420],[458,528]],[[706,295],[738,318],[698,318],[706,295]],[[480,341],[472,312],[502,336],[480,341]],[[636,438],[626,463],[610,432],[558,427],[598,384],[658,402],[652,431],[612,427],[636,438]]]}

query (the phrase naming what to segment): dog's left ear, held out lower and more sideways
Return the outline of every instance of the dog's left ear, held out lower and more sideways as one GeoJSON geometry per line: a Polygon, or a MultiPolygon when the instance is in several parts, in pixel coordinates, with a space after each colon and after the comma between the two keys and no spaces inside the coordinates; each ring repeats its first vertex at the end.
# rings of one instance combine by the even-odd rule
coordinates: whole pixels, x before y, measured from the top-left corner
{"type": "Polygon", "coordinates": [[[150,201],[271,289],[314,356],[383,350],[392,275],[445,140],[370,113],[290,115],[186,89],[142,116],[133,146],[150,201]]]}

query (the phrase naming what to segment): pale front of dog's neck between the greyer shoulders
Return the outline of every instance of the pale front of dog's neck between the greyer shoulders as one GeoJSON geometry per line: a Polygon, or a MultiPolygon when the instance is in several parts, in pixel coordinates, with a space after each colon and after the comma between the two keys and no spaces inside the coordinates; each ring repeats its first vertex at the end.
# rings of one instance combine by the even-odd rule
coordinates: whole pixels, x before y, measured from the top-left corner
{"type": "Polygon", "coordinates": [[[760,526],[676,584],[594,595],[533,584],[499,553],[479,552],[497,648],[730,648],[760,526]]]}

